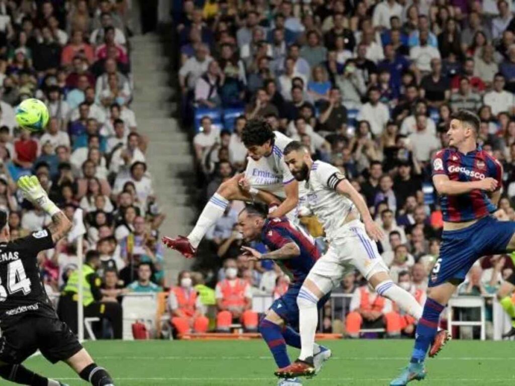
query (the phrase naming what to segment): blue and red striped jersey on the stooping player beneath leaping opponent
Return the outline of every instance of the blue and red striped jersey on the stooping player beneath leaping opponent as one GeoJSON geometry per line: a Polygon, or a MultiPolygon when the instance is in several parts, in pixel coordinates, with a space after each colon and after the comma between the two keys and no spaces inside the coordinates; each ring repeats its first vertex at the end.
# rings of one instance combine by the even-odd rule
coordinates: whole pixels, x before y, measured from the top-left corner
{"type": "Polygon", "coordinates": [[[286,217],[266,220],[261,239],[270,251],[276,251],[290,242],[297,244],[300,249],[299,256],[287,260],[276,260],[277,264],[290,277],[292,283],[304,282],[307,274],[320,258],[315,240],[286,217]]]}

